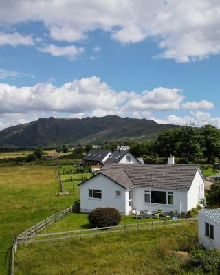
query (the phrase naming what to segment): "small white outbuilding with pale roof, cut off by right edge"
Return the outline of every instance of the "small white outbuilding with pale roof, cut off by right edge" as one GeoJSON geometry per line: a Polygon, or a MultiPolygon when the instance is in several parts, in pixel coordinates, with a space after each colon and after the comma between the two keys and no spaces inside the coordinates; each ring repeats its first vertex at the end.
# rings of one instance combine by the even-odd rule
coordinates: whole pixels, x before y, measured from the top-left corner
{"type": "Polygon", "coordinates": [[[202,209],[198,214],[199,243],[206,249],[220,249],[220,209],[202,209]]]}

